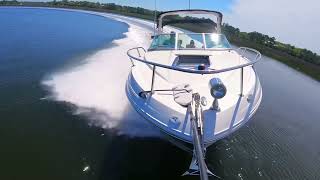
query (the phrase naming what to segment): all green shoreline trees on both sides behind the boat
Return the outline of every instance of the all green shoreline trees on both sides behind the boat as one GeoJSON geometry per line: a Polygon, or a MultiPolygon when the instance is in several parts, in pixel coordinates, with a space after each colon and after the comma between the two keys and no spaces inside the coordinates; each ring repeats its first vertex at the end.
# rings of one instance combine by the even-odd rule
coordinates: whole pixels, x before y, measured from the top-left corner
{"type": "MultiPolygon", "coordinates": [[[[0,6],[40,6],[40,7],[63,7],[100,12],[116,13],[133,16],[147,20],[154,20],[154,11],[130,6],[120,6],[114,3],[99,3],[88,1],[56,1],[51,2],[18,2],[16,0],[0,1],[0,6]]],[[[205,21],[205,20],[204,20],[205,21]]],[[[202,22],[204,23],[204,22],[202,22]]],[[[178,26],[178,25],[176,25],[178,26]]],[[[197,26],[182,24],[178,27],[190,31],[203,31],[208,26],[199,24],[197,26]],[[196,28],[195,28],[196,27],[196,28]]],[[[241,32],[229,24],[223,24],[223,32],[231,43],[238,46],[247,46],[259,50],[261,53],[277,59],[297,70],[300,70],[320,81],[320,56],[310,50],[297,48],[290,44],[281,43],[274,37],[269,37],[259,32],[241,32]]]]}

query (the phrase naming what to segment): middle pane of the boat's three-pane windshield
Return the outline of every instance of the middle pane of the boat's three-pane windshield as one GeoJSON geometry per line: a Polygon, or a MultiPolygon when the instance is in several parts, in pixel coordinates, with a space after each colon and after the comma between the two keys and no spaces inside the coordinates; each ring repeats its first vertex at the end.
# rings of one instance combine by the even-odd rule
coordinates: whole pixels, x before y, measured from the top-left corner
{"type": "Polygon", "coordinates": [[[177,47],[179,49],[204,48],[202,34],[179,34],[177,47]]]}

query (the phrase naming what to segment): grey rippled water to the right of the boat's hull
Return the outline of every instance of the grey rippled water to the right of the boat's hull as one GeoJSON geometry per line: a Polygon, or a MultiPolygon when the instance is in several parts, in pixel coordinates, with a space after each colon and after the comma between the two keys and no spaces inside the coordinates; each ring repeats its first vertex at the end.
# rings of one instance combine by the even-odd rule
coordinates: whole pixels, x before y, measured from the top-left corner
{"type": "Polygon", "coordinates": [[[227,179],[320,177],[320,83],[263,57],[259,110],[246,127],[217,142],[208,160],[227,179]]]}

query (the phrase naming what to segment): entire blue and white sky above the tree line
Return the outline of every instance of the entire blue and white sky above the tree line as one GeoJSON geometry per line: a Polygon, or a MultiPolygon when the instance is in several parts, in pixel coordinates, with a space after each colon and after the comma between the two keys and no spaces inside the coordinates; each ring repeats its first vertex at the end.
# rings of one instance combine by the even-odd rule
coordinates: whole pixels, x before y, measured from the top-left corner
{"type": "MultiPolygon", "coordinates": [[[[95,0],[91,0],[95,1],[95,0]]],[[[192,9],[221,11],[224,22],[320,54],[320,0],[190,0],[192,9]]],[[[155,0],[102,0],[154,9],[155,0]]],[[[156,0],[161,11],[187,9],[189,0],[156,0]]]]}

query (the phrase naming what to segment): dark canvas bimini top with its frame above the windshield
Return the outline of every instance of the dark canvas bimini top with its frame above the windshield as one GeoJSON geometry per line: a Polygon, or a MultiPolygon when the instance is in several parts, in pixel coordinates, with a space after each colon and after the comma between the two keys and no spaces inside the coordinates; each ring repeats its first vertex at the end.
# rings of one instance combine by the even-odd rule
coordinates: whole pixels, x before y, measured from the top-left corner
{"type": "Polygon", "coordinates": [[[158,34],[162,33],[163,27],[168,24],[177,24],[177,23],[197,23],[204,22],[207,23],[208,19],[206,18],[198,18],[198,19],[174,19],[170,22],[164,22],[164,18],[167,16],[188,16],[188,15],[208,15],[208,16],[214,16],[216,17],[216,21],[213,21],[213,23],[216,26],[216,33],[221,33],[221,24],[222,24],[222,13],[218,11],[209,11],[209,10],[198,10],[198,9],[192,9],[192,10],[176,10],[176,11],[167,11],[158,14],[157,16],[157,29],[158,34]]]}

